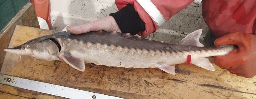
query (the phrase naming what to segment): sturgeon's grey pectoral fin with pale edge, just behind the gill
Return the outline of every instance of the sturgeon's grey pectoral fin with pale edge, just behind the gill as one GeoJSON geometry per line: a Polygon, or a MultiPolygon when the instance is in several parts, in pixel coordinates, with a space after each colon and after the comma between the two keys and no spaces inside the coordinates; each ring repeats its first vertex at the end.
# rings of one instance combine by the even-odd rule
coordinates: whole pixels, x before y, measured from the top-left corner
{"type": "Polygon", "coordinates": [[[76,58],[71,55],[70,52],[64,51],[60,53],[60,57],[70,66],[72,66],[74,69],[77,69],[79,71],[84,71],[85,65],[84,60],[82,58],[76,58]]]}

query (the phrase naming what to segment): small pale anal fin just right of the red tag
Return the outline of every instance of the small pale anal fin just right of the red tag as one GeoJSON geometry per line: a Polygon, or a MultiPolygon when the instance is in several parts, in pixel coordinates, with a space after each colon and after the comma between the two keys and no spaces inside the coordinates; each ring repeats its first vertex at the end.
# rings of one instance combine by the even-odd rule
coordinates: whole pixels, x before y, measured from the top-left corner
{"type": "Polygon", "coordinates": [[[201,67],[201,68],[204,68],[204,69],[207,69],[207,70],[210,70],[210,71],[215,71],[214,66],[213,66],[212,63],[209,61],[208,58],[201,58],[201,59],[199,59],[199,60],[192,61],[191,63],[194,64],[194,65],[196,65],[196,66],[199,66],[199,67],[201,67]]]}

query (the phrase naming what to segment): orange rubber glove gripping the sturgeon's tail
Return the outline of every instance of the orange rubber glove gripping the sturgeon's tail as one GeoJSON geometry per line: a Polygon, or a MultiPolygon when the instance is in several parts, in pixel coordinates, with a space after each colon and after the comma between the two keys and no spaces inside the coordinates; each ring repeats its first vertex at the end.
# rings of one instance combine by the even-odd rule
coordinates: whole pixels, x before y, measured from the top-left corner
{"type": "Polygon", "coordinates": [[[230,33],[216,39],[214,44],[238,46],[229,55],[215,56],[216,65],[238,76],[251,78],[256,75],[256,35],[230,33]]]}

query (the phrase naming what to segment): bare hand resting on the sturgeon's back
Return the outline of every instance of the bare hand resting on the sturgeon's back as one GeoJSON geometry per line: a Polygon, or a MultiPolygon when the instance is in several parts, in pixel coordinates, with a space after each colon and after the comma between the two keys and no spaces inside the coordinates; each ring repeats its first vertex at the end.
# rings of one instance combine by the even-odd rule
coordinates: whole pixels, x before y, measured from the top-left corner
{"type": "Polygon", "coordinates": [[[121,30],[119,29],[113,16],[106,16],[102,19],[94,20],[84,25],[78,25],[75,27],[67,26],[67,31],[73,34],[81,34],[98,30],[117,31],[121,33],[121,30]]]}

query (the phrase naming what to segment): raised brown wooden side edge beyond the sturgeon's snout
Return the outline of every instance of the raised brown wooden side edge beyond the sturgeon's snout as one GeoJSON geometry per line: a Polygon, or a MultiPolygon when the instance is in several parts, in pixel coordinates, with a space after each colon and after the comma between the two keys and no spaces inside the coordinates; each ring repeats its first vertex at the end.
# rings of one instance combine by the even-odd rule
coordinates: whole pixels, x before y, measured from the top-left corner
{"type": "MultiPolygon", "coordinates": [[[[12,18],[12,20],[0,31],[0,49],[8,47],[9,41],[16,25],[25,25],[30,27],[38,27],[38,19],[35,13],[34,5],[27,3],[23,8],[12,18]]],[[[0,69],[3,64],[3,59],[6,52],[0,50],[0,69]]]]}

